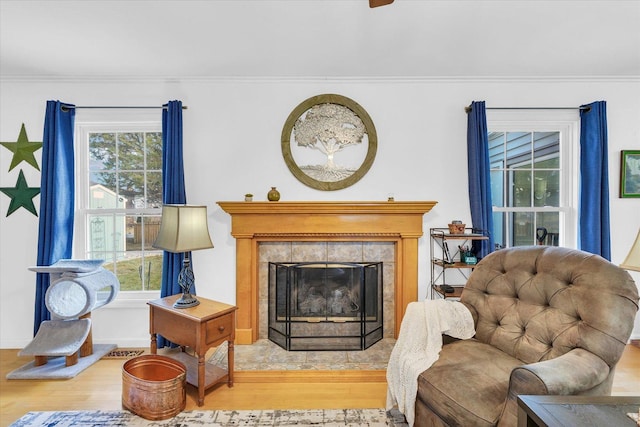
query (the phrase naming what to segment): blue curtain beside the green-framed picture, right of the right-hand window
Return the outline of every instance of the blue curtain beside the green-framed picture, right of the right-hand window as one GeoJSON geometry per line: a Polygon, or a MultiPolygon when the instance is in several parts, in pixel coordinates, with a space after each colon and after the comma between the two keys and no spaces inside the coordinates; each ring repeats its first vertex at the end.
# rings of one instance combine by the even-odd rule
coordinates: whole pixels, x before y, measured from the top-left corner
{"type": "Polygon", "coordinates": [[[607,103],[581,106],[578,247],[610,261],[607,150],[607,103]]]}

